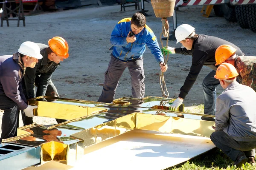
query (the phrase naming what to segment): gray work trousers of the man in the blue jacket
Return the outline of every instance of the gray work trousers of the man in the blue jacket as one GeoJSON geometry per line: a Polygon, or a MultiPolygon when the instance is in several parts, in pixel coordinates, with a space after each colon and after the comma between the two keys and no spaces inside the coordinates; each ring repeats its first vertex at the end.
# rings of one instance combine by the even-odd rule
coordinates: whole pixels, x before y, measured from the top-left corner
{"type": "Polygon", "coordinates": [[[98,102],[111,103],[113,101],[119,79],[122,76],[122,73],[125,71],[126,67],[128,68],[131,74],[132,97],[138,99],[144,97],[145,75],[143,69],[143,58],[123,62],[119,59],[116,59],[111,54],[111,59],[108,64],[108,70],[105,72],[105,80],[102,94],[99,97],[98,102]]]}

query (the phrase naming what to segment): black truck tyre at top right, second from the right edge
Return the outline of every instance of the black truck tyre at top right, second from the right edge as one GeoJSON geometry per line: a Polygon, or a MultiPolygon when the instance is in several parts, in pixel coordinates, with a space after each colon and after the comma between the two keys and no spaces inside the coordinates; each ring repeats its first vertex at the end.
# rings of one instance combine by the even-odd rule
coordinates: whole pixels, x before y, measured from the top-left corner
{"type": "Polygon", "coordinates": [[[247,21],[247,5],[244,6],[236,6],[236,19],[237,23],[241,28],[249,28],[249,24],[247,21]]]}

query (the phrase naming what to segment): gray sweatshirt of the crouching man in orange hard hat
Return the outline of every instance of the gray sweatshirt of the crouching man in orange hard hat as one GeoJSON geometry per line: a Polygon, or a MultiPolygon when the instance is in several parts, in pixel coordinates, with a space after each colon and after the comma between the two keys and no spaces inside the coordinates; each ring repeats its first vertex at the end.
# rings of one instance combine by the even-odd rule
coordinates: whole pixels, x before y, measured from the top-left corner
{"type": "Polygon", "coordinates": [[[232,82],[216,100],[216,130],[236,141],[256,141],[256,92],[232,82]]]}

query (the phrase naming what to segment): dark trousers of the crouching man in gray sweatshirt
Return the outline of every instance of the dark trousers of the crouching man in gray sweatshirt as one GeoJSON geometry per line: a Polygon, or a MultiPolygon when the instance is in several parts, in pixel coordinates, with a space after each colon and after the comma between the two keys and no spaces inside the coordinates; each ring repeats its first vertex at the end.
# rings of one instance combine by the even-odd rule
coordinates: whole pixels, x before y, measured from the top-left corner
{"type": "Polygon", "coordinates": [[[215,146],[233,161],[236,161],[240,155],[245,155],[247,158],[249,156],[255,157],[256,139],[251,142],[240,142],[227,135],[224,131],[215,131],[210,138],[215,146]]]}

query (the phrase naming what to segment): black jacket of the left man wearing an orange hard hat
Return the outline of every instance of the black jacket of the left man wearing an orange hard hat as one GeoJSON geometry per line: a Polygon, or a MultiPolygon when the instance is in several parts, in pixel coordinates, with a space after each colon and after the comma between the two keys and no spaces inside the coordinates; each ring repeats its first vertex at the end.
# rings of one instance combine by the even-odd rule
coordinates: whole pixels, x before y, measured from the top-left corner
{"type": "Polygon", "coordinates": [[[48,59],[47,48],[48,45],[37,43],[40,47],[40,54],[42,59],[38,59],[38,63],[34,68],[27,68],[24,76],[26,85],[26,94],[28,99],[36,96],[44,96],[47,90],[48,83],[52,77],[52,73],[58,68],[60,64],[56,64],[48,59]],[[35,93],[35,79],[38,79],[38,87],[35,93]]]}

